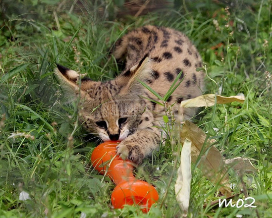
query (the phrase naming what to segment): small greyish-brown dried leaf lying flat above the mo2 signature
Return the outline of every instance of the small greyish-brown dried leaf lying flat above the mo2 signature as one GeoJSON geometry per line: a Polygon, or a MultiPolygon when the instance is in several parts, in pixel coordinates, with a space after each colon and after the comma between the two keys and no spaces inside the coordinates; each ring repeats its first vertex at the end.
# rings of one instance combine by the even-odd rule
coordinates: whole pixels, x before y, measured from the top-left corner
{"type": "Polygon", "coordinates": [[[233,168],[237,173],[257,171],[257,169],[252,165],[250,160],[247,158],[237,157],[233,159],[227,159],[224,162],[225,164],[233,168]]]}

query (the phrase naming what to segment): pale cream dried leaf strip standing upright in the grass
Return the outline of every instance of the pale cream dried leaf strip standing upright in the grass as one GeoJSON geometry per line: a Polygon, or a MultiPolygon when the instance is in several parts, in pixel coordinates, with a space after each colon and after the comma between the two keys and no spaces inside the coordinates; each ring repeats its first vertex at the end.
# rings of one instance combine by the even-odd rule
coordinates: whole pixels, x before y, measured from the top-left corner
{"type": "Polygon", "coordinates": [[[176,200],[182,211],[188,211],[191,185],[191,142],[185,139],[180,154],[180,166],[175,184],[176,200]]]}

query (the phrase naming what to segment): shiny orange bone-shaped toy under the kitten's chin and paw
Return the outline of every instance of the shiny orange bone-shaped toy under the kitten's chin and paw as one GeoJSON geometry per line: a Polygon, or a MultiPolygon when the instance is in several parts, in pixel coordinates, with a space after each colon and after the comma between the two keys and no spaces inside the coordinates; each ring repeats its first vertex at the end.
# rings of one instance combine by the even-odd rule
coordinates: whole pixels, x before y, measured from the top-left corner
{"type": "Polygon", "coordinates": [[[108,141],[96,147],[91,156],[92,164],[99,173],[106,174],[116,184],[111,194],[114,208],[136,204],[147,213],[151,205],[158,201],[159,195],[151,184],[133,176],[131,162],[116,156],[117,142],[108,141]]]}

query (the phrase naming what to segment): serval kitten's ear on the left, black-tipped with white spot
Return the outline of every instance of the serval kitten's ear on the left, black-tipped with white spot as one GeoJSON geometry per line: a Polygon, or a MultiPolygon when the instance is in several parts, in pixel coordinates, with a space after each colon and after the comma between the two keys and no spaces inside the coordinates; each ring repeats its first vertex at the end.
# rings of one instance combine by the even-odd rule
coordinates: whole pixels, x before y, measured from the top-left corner
{"type": "Polygon", "coordinates": [[[80,75],[76,71],[59,64],[57,64],[55,75],[58,77],[61,87],[71,97],[86,96],[88,89],[92,87],[92,83],[95,83],[89,78],[80,79],[80,75]]]}

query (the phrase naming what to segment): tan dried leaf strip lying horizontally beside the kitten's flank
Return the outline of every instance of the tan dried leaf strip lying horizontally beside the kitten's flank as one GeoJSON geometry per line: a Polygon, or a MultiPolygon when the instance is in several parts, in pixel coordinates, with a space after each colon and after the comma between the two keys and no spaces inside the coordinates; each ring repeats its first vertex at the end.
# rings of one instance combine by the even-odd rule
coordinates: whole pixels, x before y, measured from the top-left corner
{"type": "Polygon", "coordinates": [[[244,96],[230,96],[224,97],[214,94],[202,95],[194,99],[188,99],[180,103],[180,108],[198,108],[198,107],[210,107],[217,104],[227,104],[231,102],[240,102],[245,101],[244,96]],[[216,98],[215,98],[216,97],[216,98]]]}

